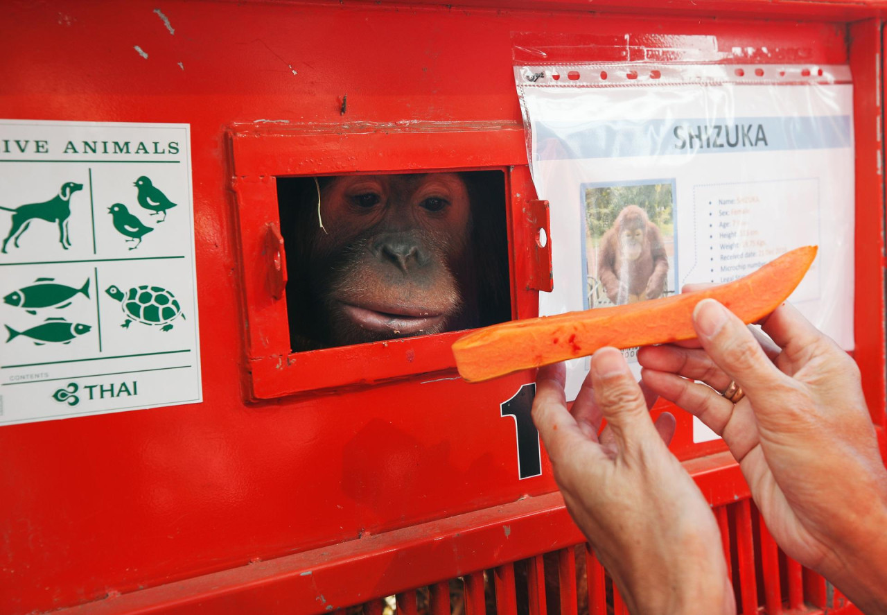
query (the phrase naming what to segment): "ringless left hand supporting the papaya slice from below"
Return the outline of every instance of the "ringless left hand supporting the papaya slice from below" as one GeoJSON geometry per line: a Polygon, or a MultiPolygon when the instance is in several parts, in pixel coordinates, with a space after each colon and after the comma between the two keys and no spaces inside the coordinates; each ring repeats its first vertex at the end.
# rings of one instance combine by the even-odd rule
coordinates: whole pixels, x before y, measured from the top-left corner
{"type": "Polygon", "coordinates": [[[614,348],[594,354],[570,411],[564,377],[562,365],[539,369],[533,420],[570,515],[629,611],[734,613],[718,524],[666,445],[674,417],[650,420],[614,348]]]}

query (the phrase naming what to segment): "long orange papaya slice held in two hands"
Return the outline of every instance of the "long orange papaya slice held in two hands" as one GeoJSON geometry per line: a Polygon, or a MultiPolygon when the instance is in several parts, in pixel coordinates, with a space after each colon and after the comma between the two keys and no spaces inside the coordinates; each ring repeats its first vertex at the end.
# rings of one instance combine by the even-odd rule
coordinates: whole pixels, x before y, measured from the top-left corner
{"type": "Polygon", "coordinates": [[[453,343],[456,367],[467,382],[483,382],[585,357],[604,346],[624,349],[693,339],[693,309],[709,297],[743,322],[754,322],[791,295],[816,250],[791,250],[738,280],[692,293],[484,327],[453,343]]]}

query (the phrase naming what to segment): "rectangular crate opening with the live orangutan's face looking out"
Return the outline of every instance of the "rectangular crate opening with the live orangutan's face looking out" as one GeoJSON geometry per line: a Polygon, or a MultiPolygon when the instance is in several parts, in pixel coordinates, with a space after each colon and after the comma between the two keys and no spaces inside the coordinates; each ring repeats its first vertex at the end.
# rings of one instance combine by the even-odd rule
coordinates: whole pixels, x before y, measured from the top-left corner
{"type": "Polygon", "coordinates": [[[511,318],[501,171],[284,177],[293,351],[511,318]]]}

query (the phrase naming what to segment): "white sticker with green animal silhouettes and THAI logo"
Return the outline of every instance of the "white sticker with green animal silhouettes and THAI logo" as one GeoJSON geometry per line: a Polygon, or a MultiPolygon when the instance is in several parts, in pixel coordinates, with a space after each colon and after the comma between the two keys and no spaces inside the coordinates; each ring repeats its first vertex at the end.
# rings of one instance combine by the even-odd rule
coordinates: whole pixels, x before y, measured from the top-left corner
{"type": "Polygon", "coordinates": [[[202,401],[188,124],[0,120],[0,425],[202,401]]]}

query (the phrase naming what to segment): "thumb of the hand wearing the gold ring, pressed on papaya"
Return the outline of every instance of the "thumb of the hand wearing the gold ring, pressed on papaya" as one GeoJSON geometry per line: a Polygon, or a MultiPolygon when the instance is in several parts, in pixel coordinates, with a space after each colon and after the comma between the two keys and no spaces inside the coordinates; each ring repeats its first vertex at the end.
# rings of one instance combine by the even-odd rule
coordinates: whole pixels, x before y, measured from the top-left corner
{"type": "Polygon", "coordinates": [[[696,304],[693,325],[711,359],[751,398],[765,398],[786,386],[788,376],[767,359],[748,327],[714,299],[696,304]]]}

